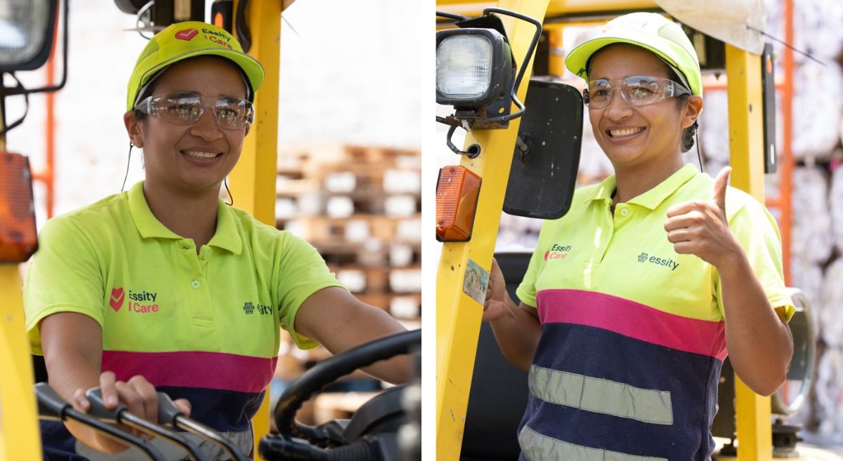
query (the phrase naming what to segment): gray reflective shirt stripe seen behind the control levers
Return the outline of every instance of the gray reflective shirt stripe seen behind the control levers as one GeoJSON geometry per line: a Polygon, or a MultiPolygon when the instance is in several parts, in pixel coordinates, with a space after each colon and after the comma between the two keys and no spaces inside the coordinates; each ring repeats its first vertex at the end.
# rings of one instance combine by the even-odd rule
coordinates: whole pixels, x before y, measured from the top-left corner
{"type": "MultiPolygon", "coordinates": [[[[205,455],[208,461],[229,461],[231,459],[231,455],[224,451],[223,448],[219,448],[216,444],[208,442],[204,438],[185,432],[180,432],[180,434],[188,442],[192,442],[196,448],[199,448],[199,451],[205,455]]],[[[255,440],[251,429],[243,432],[220,432],[220,434],[234,442],[234,445],[237,445],[244,455],[249,456],[255,440]]],[[[158,448],[158,451],[164,456],[166,461],[193,459],[188,458],[184,449],[166,440],[155,438],[150,443],[155,448],[158,448]]],[[[89,448],[89,446],[78,440],[76,441],[76,453],[81,454],[90,461],[137,461],[139,459],[148,459],[147,455],[138,448],[129,448],[121,453],[105,454],[94,450],[94,448],[89,448]]]]}

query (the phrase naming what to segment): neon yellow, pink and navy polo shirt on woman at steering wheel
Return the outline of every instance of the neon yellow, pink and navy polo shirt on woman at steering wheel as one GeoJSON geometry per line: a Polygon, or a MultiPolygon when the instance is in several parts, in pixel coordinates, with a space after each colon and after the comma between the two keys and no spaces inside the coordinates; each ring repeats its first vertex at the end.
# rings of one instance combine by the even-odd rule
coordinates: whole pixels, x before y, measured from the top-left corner
{"type": "Polygon", "coordinates": [[[197,254],[155,218],[143,183],[48,221],[39,238],[24,286],[33,351],[47,315],[88,315],[103,330],[104,371],[142,374],[222,431],[249,428],[281,329],[316,346],[293,331],[303,301],[341,286],[313,246],[222,201],[197,254]]]}

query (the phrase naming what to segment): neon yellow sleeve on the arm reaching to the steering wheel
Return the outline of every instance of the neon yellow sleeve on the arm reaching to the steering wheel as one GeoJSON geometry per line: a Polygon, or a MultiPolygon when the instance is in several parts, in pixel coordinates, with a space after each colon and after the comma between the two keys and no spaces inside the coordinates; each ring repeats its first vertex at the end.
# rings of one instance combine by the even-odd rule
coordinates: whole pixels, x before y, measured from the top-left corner
{"type": "Polygon", "coordinates": [[[277,291],[281,326],[300,349],[312,349],[319,346],[319,343],[294,330],[298,308],[320,289],[345,287],[328,270],[325,260],[307,241],[289,232],[282,232],[281,251],[277,291]]]}

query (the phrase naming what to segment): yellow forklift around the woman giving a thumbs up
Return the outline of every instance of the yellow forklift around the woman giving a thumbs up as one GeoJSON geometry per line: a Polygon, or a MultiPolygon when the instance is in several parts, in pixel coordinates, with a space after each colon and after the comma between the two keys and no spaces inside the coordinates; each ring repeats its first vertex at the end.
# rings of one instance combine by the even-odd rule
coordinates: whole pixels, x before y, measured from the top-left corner
{"type": "MultiPolygon", "coordinates": [[[[792,14],[792,2],[785,3],[786,13],[792,14]]],[[[707,8],[727,7],[717,4],[711,2],[707,8]]],[[[441,92],[439,87],[437,92],[439,104],[453,106],[453,114],[438,116],[437,121],[449,126],[446,145],[461,158],[459,165],[440,170],[437,185],[437,240],[443,242],[436,298],[439,461],[518,458],[516,436],[527,401],[527,374],[502,357],[491,328],[481,326],[481,314],[491,258],[497,258],[513,299],[529,262],[529,252],[493,255],[502,210],[556,219],[570,206],[582,141],[583,100],[577,88],[547,77],[564,72],[563,29],[599,26],[636,11],[662,13],[682,23],[701,56],[703,72],[726,77],[732,185],[764,203],[764,175],[776,172],[779,156],[774,56],[770,45],[747,39],[749,35],[758,39],[763,31],[764,24],[756,24],[763,20],[759,4],[729,3],[726,11],[738,24],[724,34],[722,29],[728,26],[711,20],[722,18],[722,13],[706,18],[699,11],[689,11],[706,9],[702,3],[437,1],[438,85],[439,78],[450,72],[446,66],[454,66],[454,75],[465,69],[488,69],[479,87],[459,88],[455,83],[454,93],[441,92]],[[465,45],[450,50],[440,47],[454,37],[465,45]],[[481,42],[487,45],[468,45],[481,42]],[[555,133],[546,128],[550,120],[555,133]],[[464,146],[452,141],[457,129],[466,131],[464,146]]],[[[763,12],[763,5],[760,8],[763,12]]],[[[792,40],[789,24],[785,40],[792,40]]],[[[458,42],[451,40],[454,43],[458,42]]],[[[790,53],[785,51],[785,61],[792,68],[790,53]]],[[[786,74],[790,80],[792,73],[786,74]]],[[[717,84],[722,85],[722,80],[717,84]]],[[[792,82],[784,85],[792,91],[792,82]]],[[[789,139],[790,127],[784,130],[789,139]]],[[[789,165],[781,171],[789,175],[789,165]]],[[[789,190],[789,177],[782,178],[782,183],[789,190]]],[[[787,212],[784,225],[789,226],[787,212]]],[[[787,231],[783,230],[786,238],[787,231]]],[[[787,416],[797,411],[813,374],[815,335],[808,300],[797,289],[792,290],[792,297],[797,314],[790,324],[795,344],[788,383],[772,398],[756,395],[733,374],[727,360],[719,387],[719,412],[711,428],[721,447],[713,458],[841,459],[797,448],[799,427],[784,424],[781,418],[773,421],[774,413],[787,416]]]]}

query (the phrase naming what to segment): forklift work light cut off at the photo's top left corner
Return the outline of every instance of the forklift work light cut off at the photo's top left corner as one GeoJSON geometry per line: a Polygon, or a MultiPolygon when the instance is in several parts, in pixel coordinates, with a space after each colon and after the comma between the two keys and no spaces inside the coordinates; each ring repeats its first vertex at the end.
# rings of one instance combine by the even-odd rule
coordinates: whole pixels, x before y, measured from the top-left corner
{"type": "Polygon", "coordinates": [[[56,2],[0,1],[0,72],[31,71],[50,56],[56,2]]]}

